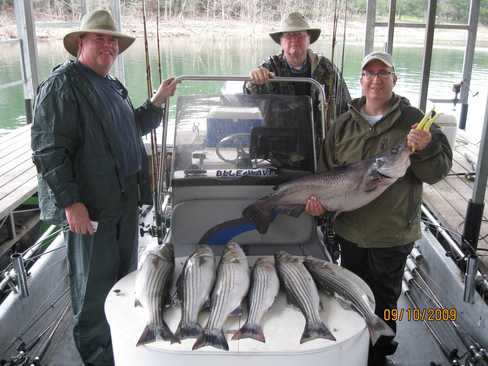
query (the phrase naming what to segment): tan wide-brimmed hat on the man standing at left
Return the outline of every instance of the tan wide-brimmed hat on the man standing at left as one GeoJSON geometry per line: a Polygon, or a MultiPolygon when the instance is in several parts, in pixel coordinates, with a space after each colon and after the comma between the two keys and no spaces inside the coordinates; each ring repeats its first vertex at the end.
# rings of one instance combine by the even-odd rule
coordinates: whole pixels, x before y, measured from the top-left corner
{"type": "Polygon", "coordinates": [[[117,31],[112,14],[107,10],[93,10],[83,16],[80,29],[64,36],[63,43],[66,51],[73,56],[78,55],[78,38],[87,33],[108,34],[118,38],[119,54],[124,52],[134,41],[134,37],[127,36],[117,31]]]}

